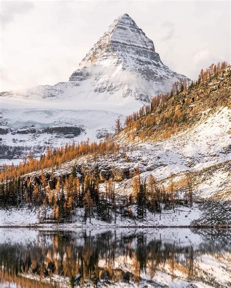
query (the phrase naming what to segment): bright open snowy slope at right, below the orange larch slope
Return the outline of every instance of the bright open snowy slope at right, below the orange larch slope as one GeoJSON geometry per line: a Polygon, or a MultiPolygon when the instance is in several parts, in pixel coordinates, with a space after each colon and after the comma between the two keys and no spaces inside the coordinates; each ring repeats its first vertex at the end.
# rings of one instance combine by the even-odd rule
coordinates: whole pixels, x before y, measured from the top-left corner
{"type": "Polygon", "coordinates": [[[199,171],[230,161],[231,110],[224,107],[214,114],[209,112],[204,112],[204,120],[199,125],[168,140],[139,143],[134,149],[129,147],[127,156],[130,160],[136,159],[141,170],[154,173],[157,180],[169,177],[170,173],[199,171]]]}

